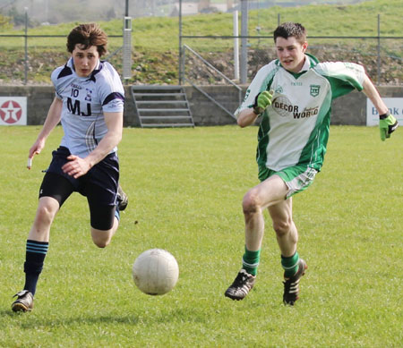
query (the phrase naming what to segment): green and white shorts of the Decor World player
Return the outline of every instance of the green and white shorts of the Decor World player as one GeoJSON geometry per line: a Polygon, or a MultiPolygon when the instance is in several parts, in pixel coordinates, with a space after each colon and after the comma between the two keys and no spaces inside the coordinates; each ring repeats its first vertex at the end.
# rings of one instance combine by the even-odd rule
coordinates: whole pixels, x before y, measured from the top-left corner
{"type": "Polygon", "coordinates": [[[313,179],[317,173],[316,169],[308,166],[289,166],[279,172],[266,167],[260,167],[259,180],[263,182],[272,175],[279,175],[286,182],[288,187],[287,198],[289,198],[300,191],[306,190],[313,183],[313,179]]]}

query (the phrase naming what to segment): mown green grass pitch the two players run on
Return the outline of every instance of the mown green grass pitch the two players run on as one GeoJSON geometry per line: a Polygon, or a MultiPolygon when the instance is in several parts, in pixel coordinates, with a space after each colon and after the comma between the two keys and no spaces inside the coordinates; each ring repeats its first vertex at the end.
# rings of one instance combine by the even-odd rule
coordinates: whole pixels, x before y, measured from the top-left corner
{"type": "Polygon", "coordinates": [[[14,314],[25,240],[41,170],[62,131],[25,169],[39,126],[0,127],[0,346],[2,347],[397,347],[403,341],[401,214],[403,136],[376,128],[330,129],[313,186],[294,199],[299,253],[308,262],[301,299],[282,305],[279,249],[266,215],[262,262],[244,301],[223,296],[241,266],[241,200],[257,183],[256,127],[124,129],[122,184],[130,197],[111,245],[90,240],[86,200],[75,194],[52,227],[35,309],[14,314]],[[180,276],[167,295],[142,294],[134,259],[169,250],[180,276]]]}

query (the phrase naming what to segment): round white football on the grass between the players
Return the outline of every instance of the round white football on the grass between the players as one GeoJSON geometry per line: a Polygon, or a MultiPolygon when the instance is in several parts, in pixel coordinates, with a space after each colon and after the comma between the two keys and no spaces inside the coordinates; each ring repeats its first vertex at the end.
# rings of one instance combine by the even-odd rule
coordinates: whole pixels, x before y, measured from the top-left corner
{"type": "Polygon", "coordinates": [[[133,264],[134,284],[143,293],[162,295],[176,285],[179,267],[167,250],[150,249],[142,252],[133,264]]]}

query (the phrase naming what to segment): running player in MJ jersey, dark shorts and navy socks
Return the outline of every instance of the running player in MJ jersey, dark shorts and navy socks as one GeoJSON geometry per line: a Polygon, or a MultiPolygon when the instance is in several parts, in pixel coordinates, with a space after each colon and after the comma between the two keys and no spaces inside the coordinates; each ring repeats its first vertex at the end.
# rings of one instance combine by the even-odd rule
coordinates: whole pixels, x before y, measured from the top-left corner
{"type": "Polygon", "coordinates": [[[56,97],[29,152],[45,147],[48,135],[61,122],[64,137],[39,190],[39,207],[26,243],[25,285],[15,296],[14,311],[27,311],[47,254],[49,233],[58,210],[73,191],[88,200],[92,241],[105,248],[119,225],[119,208],[127,198],[119,186],[117,144],[122,139],[124,88],[111,64],[101,62],[107,35],[97,24],[81,24],[67,37],[71,57],[52,73],[56,97]]]}

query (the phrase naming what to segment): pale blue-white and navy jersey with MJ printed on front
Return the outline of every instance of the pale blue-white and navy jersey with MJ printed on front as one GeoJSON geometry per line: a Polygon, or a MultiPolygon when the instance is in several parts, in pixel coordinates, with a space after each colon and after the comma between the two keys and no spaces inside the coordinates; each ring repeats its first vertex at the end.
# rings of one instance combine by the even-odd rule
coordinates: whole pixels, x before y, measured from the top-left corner
{"type": "MultiPolygon", "coordinates": [[[[61,146],[73,155],[87,157],[107,133],[104,112],[122,112],[124,88],[114,67],[99,62],[88,77],[79,77],[73,58],[52,72],[56,98],[63,101],[61,146]]],[[[116,148],[111,152],[115,152],[116,148]]]]}

